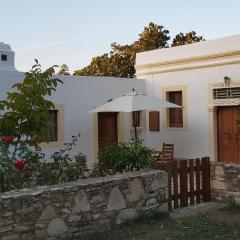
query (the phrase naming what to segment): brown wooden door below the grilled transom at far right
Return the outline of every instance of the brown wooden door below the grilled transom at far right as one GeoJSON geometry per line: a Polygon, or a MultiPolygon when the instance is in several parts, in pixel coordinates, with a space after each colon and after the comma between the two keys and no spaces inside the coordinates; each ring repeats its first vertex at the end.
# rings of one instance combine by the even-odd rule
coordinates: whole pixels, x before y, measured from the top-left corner
{"type": "Polygon", "coordinates": [[[221,162],[240,163],[240,139],[235,107],[218,108],[218,158],[221,162]]]}

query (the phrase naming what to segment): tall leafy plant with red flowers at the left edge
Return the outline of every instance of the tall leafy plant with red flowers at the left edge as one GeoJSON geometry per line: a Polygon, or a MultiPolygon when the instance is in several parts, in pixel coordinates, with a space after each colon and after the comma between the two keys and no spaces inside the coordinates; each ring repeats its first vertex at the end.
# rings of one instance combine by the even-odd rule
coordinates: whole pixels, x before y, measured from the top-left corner
{"type": "Polygon", "coordinates": [[[37,60],[21,83],[15,83],[0,101],[0,191],[21,188],[34,175],[43,159],[40,143],[47,138],[49,109],[47,100],[61,80],[53,78],[52,66],[45,71],[37,60]]]}

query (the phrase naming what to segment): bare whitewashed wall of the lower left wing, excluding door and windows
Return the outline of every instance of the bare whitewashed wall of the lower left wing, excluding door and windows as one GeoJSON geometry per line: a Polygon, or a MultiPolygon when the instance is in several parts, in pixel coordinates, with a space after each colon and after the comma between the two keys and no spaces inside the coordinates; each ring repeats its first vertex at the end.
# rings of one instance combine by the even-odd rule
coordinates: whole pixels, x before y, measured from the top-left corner
{"type": "MultiPolygon", "coordinates": [[[[15,82],[22,81],[24,74],[17,71],[0,71],[0,97],[4,98],[7,91],[15,82]]],[[[92,165],[93,153],[93,115],[88,111],[93,107],[106,103],[111,98],[116,98],[135,88],[145,91],[144,80],[108,78],[108,77],[73,77],[58,76],[64,84],[57,87],[51,100],[54,103],[64,104],[65,142],[71,140],[72,135],[81,133],[79,145],[73,153],[83,152],[88,157],[88,164],[92,165]]],[[[125,114],[125,139],[130,139],[129,119],[125,114]]],[[[47,156],[58,148],[44,149],[47,156]]]]}

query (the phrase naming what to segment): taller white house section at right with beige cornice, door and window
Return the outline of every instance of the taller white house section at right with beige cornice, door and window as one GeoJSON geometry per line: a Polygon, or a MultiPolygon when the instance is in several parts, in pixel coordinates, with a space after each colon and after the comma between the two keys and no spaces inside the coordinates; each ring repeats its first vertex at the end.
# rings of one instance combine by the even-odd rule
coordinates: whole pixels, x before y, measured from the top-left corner
{"type": "Polygon", "coordinates": [[[139,53],[136,75],[146,94],[183,105],[147,118],[148,146],[174,143],[178,157],[240,162],[240,35],[139,53]]]}

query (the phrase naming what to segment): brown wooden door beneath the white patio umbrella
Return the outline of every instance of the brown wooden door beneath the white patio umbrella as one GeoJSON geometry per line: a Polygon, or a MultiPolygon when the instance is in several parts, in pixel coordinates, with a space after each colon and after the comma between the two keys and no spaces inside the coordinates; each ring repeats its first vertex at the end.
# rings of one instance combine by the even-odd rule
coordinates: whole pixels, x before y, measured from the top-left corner
{"type": "Polygon", "coordinates": [[[107,146],[118,143],[117,113],[98,113],[98,149],[104,150],[107,146]]]}

